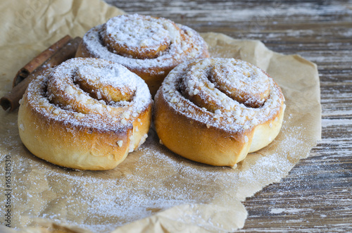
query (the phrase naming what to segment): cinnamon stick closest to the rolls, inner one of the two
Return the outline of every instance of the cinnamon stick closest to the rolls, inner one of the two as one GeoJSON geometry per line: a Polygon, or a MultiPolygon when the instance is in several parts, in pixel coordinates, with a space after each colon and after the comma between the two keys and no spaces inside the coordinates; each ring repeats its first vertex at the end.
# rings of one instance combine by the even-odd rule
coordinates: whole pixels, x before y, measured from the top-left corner
{"type": "Polygon", "coordinates": [[[17,108],[20,105],[18,101],[20,101],[23,94],[25,94],[25,90],[27,89],[28,84],[30,84],[30,82],[44,70],[53,68],[54,66],[59,65],[70,58],[74,58],[77,47],[81,41],[81,37],[75,37],[75,39],[71,39],[70,42],[59,49],[53,56],[51,56],[51,58],[49,58],[42,65],[39,65],[37,69],[30,73],[30,75],[28,75],[25,80],[13,87],[11,92],[8,92],[8,94],[0,99],[0,105],[2,108],[4,108],[6,111],[13,111],[15,108],[17,108]]]}

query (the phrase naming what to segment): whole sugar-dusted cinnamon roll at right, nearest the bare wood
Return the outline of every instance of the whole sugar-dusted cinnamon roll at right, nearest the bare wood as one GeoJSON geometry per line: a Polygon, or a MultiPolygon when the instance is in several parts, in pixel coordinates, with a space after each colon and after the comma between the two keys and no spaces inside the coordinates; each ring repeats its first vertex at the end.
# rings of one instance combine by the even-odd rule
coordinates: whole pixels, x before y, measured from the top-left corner
{"type": "Polygon", "coordinates": [[[272,142],[282,126],[284,96],[255,65],[233,58],[188,61],[155,96],[161,143],[201,163],[233,166],[272,142]]]}

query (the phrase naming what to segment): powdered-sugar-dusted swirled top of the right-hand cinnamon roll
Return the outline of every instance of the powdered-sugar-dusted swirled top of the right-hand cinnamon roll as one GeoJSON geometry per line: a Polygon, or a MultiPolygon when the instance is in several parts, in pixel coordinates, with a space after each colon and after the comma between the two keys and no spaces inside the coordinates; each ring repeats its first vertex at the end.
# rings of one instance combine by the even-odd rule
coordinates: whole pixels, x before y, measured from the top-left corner
{"type": "Polygon", "coordinates": [[[233,58],[208,58],[182,63],[165,78],[159,92],[168,101],[171,108],[188,118],[234,132],[249,129],[273,118],[282,110],[284,102],[281,90],[268,75],[254,66],[249,67],[244,61],[233,58]],[[233,82],[241,83],[243,80],[249,82],[254,79],[258,82],[250,87],[253,90],[249,90],[254,94],[262,91],[262,87],[259,86],[265,86],[262,84],[268,83],[270,95],[268,99],[263,101],[263,106],[259,108],[245,106],[244,103],[232,99],[231,96],[216,88],[215,84],[209,80],[209,73],[214,64],[231,65],[235,69],[239,66],[236,72],[240,75],[232,73],[232,75],[228,75],[230,81],[223,82],[230,82],[230,85],[233,86],[233,82]],[[244,68],[250,69],[244,71],[244,68]],[[246,77],[243,78],[244,73],[246,77]],[[239,77],[239,80],[236,80],[235,77],[239,77]]]}

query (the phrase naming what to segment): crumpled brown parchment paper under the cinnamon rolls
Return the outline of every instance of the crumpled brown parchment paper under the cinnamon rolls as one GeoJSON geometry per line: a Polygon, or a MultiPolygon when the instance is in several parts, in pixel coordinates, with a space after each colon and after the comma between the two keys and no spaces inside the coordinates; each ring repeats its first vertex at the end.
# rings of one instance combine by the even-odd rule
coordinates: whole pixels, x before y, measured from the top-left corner
{"type": "MultiPolygon", "coordinates": [[[[0,96],[19,68],[65,34],[123,13],[101,1],[0,1],[0,96]]],[[[32,155],[20,141],[17,111],[0,111],[0,232],[231,232],[244,226],[241,203],[279,182],[320,139],[318,70],[258,41],[201,34],[210,55],[249,61],[282,88],[282,130],[237,168],[194,163],[159,144],[156,132],[118,168],[77,171],[32,155]],[[8,214],[9,213],[9,214],[8,214]],[[10,217],[8,217],[10,216],[10,217]]]]}

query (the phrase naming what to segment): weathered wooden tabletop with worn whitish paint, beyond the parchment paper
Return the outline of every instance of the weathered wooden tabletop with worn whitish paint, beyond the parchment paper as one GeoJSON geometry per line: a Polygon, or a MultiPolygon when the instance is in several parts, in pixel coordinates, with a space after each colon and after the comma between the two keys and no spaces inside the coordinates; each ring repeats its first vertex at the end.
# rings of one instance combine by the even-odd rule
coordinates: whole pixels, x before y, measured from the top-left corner
{"type": "Polygon", "coordinates": [[[322,141],[281,182],[244,201],[249,217],[239,232],[352,232],[352,1],[106,1],[316,63],[322,141]]]}

